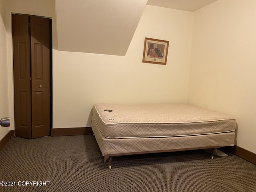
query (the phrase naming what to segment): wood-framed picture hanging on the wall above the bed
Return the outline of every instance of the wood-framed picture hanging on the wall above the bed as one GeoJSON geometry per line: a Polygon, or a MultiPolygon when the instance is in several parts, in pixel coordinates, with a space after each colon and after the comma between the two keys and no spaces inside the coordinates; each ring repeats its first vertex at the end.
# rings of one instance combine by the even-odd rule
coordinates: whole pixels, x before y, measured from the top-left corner
{"type": "Polygon", "coordinates": [[[166,65],[168,47],[169,41],[145,38],[142,62],[166,65]]]}

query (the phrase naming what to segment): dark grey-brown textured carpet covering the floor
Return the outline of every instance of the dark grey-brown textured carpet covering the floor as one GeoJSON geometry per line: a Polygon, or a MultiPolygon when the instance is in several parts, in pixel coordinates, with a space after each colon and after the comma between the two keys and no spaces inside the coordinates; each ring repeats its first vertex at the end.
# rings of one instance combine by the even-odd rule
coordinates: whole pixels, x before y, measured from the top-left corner
{"type": "Polygon", "coordinates": [[[15,182],[2,192],[256,192],[256,165],[238,156],[119,156],[109,170],[92,135],[12,137],[0,152],[0,170],[1,181],[15,182]]]}

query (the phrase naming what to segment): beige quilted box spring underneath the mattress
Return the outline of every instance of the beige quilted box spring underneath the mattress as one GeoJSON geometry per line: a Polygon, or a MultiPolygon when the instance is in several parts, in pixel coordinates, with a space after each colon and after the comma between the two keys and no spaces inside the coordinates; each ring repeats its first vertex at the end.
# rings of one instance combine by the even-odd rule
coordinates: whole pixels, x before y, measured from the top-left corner
{"type": "Polygon", "coordinates": [[[94,119],[92,119],[92,130],[103,156],[234,146],[235,140],[234,132],[184,137],[109,139],[102,135],[94,119]]]}

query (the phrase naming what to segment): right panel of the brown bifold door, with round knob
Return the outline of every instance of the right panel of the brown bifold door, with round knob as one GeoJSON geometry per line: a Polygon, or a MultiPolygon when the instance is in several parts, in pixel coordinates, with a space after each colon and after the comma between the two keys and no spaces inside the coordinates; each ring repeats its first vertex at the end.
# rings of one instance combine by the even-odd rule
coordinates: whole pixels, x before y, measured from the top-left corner
{"type": "Polygon", "coordinates": [[[32,138],[50,134],[49,19],[30,16],[32,138]]]}

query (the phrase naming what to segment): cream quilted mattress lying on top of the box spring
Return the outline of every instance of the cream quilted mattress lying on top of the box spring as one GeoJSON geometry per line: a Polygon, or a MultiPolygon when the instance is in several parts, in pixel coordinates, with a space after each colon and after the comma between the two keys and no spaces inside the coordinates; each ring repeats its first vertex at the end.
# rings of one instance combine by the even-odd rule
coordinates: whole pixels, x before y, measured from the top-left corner
{"type": "Polygon", "coordinates": [[[234,117],[189,104],[95,104],[92,112],[108,139],[199,136],[236,128],[234,117]]]}

